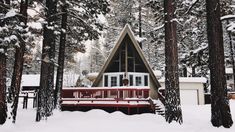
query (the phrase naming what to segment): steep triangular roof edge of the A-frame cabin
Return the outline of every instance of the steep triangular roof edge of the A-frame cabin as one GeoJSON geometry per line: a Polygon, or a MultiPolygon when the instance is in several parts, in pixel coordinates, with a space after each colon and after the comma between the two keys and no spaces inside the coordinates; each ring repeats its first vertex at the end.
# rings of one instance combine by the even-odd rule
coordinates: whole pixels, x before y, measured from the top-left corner
{"type": "Polygon", "coordinates": [[[102,79],[103,73],[106,71],[107,67],[109,66],[110,62],[112,61],[115,53],[117,52],[118,48],[121,46],[121,43],[123,41],[123,39],[125,38],[125,36],[128,35],[134,45],[134,48],[136,49],[137,53],[139,54],[141,60],[144,62],[145,67],[147,68],[150,77],[153,79],[154,85],[156,86],[156,88],[160,87],[160,84],[156,78],[156,76],[153,73],[153,70],[150,68],[147,60],[144,57],[144,54],[142,52],[142,49],[139,46],[139,43],[137,42],[137,40],[135,39],[134,33],[132,32],[129,24],[126,24],[125,27],[123,28],[114,48],[112,49],[112,52],[110,53],[109,57],[107,58],[104,66],[102,67],[99,75],[97,76],[96,80],[93,83],[93,86],[96,87],[98,86],[99,82],[102,79]]]}

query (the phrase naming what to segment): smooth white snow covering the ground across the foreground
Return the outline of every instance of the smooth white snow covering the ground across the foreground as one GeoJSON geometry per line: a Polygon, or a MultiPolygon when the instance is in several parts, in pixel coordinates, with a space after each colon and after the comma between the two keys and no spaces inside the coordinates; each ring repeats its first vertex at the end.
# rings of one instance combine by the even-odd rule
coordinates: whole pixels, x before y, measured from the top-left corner
{"type": "MultiPolygon", "coordinates": [[[[235,100],[230,101],[235,120],[235,100]]],[[[16,124],[8,121],[0,126],[0,132],[234,132],[214,128],[210,123],[210,105],[182,106],[184,123],[168,124],[154,114],[125,115],[121,112],[106,113],[102,110],[89,112],[54,111],[47,120],[35,122],[35,109],[22,109],[20,104],[16,124]]]]}

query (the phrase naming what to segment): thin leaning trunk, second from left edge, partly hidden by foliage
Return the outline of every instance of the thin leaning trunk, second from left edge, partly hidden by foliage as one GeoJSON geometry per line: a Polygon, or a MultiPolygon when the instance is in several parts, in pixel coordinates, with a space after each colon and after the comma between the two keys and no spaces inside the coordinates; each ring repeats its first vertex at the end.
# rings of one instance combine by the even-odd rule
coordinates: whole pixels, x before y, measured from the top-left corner
{"type": "MultiPolygon", "coordinates": [[[[28,0],[21,0],[20,3],[20,22],[23,22],[26,28],[27,25],[27,9],[28,9],[28,0]]],[[[16,121],[17,108],[19,102],[19,93],[20,93],[20,84],[23,72],[23,63],[24,63],[24,53],[25,53],[25,41],[23,38],[20,39],[20,47],[16,47],[15,52],[15,63],[12,75],[11,82],[11,91],[13,91],[13,104],[12,104],[12,118],[13,123],[16,121]]]]}

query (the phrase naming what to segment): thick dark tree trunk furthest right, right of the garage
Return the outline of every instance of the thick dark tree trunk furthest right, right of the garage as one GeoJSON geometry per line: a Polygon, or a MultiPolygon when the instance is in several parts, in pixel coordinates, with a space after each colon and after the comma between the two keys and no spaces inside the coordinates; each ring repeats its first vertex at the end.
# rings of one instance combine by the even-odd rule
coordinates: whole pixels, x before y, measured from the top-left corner
{"type": "Polygon", "coordinates": [[[233,121],[227,97],[220,1],[206,0],[206,10],[211,80],[211,123],[215,127],[229,128],[233,121]]]}

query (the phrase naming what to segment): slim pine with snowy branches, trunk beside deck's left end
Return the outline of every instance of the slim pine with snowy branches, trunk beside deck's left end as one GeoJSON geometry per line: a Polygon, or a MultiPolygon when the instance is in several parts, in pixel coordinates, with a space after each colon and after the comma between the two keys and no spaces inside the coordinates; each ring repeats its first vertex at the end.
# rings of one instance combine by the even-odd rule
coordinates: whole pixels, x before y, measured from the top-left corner
{"type": "Polygon", "coordinates": [[[99,31],[103,30],[103,25],[98,21],[98,15],[105,15],[109,11],[108,2],[106,0],[68,0],[63,1],[63,3],[66,3],[66,6],[68,6],[66,8],[68,10],[65,9],[65,5],[62,4],[63,15],[61,20],[62,30],[58,59],[59,68],[57,70],[58,74],[56,91],[54,93],[54,105],[57,104],[62,89],[64,60],[75,63],[74,54],[77,52],[85,52],[85,47],[81,43],[86,40],[99,38],[99,31]],[[64,14],[65,10],[67,10],[67,13],[64,14]],[[67,15],[67,18],[64,15],[67,15]]]}

